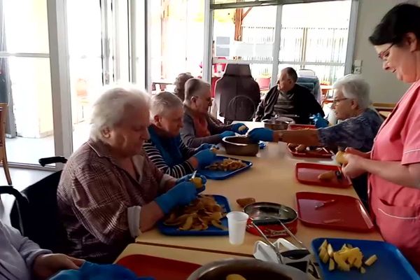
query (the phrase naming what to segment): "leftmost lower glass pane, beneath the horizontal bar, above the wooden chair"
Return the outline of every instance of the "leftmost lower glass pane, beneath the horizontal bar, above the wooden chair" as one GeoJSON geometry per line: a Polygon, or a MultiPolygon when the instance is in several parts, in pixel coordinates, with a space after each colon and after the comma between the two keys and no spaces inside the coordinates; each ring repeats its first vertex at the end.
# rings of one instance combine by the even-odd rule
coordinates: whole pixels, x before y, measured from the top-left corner
{"type": "Polygon", "coordinates": [[[6,139],[8,161],[36,165],[39,158],[55,155],[50,59],[12,57],[1,64],[9,73],[8,118],[15,120],[11,125],[17,132],[6,139]]]}

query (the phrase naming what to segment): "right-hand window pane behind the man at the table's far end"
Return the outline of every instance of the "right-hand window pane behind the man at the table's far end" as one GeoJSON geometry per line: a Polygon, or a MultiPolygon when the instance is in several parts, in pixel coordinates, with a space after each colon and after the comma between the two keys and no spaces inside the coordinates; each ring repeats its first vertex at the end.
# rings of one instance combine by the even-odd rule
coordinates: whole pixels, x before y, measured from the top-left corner
{"type": "Polygon", "coordinates": [[[349,0],[284,5],[279,69],[311,69],[328,84],[344,76],[350,11],[349,0]]]}

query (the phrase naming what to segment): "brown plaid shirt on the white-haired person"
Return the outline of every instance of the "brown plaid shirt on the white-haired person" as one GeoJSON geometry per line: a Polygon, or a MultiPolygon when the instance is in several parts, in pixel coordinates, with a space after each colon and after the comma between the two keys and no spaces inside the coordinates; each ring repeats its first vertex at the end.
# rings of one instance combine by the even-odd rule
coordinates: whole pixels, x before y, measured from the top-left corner
{"type": "Polygon", "coordinates": [[[71,155],[57,190],[59,212],[71,241],[69,254],[109,262],[133,241],[127,208],[148,204],[165,193],[164,174],[144,151],[133,158],[139,180],[92,140],[71,155]]]}

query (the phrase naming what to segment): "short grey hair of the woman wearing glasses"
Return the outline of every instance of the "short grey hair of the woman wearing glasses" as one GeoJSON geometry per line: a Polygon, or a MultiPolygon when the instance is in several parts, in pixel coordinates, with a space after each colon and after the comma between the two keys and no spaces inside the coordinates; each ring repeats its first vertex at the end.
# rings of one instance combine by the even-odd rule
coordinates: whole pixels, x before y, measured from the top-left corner
{"type": "Polygon", "coordinates": [[[370,104],[370,86],[360,75],[349,74],[337,80],[332,85],[334,89],[342,90],[344,97],[356,99],[359,109],[367,109],[370,104]]]}

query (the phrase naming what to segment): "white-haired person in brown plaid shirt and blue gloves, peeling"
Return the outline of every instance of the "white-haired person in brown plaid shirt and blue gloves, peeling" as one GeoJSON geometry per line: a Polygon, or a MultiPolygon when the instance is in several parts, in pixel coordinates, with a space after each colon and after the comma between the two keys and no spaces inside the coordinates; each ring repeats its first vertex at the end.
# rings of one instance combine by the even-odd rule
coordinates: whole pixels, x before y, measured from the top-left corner
{"type": "MultiPolygon", "coordinates": [[[[134,237],[197,197],[190,178],[174,179],[148,159],[148,95],[114,87],[93,106],[90,139],[67,162],[57,190],[73,256],[113,262],[134,237]]],[[[204,180],[205,181],[205,180],[204,180]]]]}

